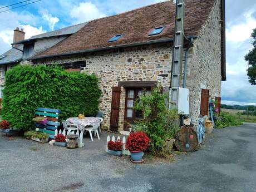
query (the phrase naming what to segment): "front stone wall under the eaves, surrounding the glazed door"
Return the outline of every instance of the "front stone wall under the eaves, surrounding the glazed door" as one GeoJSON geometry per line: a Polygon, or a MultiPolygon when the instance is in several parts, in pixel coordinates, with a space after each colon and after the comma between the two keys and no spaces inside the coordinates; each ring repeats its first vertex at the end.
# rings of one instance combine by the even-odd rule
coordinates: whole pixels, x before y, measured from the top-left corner
{"type": "MultiPolygon", "coordinates": [[[[157,81],[158,86],[170,86],[171,44],[148,45],[117,49],[84,56],[61,57],[37,61],[37,63],[65,63],[85,61],[81,72],[95,73],[100,77],[102,97],[100,110],[105,114],[104,125],[109,127],[112,87],[119,81],[157,81]],[[166,74],[166,77],[159,76],[166,74]]],[[[124,126],[125,88],[121,87],[119,130],[124,126]]]]}

